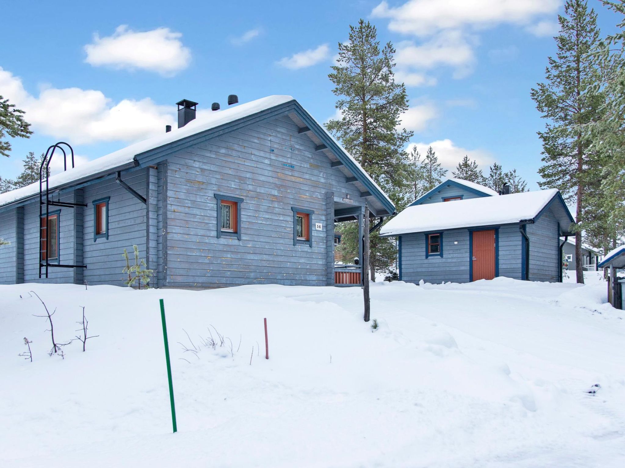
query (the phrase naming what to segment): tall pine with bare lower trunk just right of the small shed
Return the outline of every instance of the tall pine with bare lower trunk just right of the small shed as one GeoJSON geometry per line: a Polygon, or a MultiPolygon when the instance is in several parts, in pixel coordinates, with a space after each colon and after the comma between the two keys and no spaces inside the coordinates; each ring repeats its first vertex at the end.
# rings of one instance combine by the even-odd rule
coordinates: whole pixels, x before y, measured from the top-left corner
{"type": "Polygon", "coordinates": [[[584,126],[598,119],[603,100],[600,93],[584,91],[601,78],[589,54],[599,42],[599,29],[594,9],[588,11],[583,0],[567,0],[558,20],[556,57],[548,59],[545,82],[531,91],[536,109],[548,120],[544,132],[538,132],[544,155],[539,185],[556,187],[565,200],[576,203],[576,276],[577,283],[583,283],[581,223],[586,215],[586,170],[592,159],[584,126]]]}

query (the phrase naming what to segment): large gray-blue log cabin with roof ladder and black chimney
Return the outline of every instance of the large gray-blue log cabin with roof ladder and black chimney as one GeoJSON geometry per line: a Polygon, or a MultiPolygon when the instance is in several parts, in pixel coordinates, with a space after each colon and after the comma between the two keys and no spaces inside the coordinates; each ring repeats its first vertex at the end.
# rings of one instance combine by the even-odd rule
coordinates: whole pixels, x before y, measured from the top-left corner
{"type": "Polygon", "coordinates": [[[296,100],[198,119],[178,105],[178,129],[51,176],[47,220],[38,182],[1,194],[0,283],[123,285],[133,245],[151,286],[360,283],[359,266],[334,265],[334,222],[362,230],[365,205],[394,205],[296,100]]]}

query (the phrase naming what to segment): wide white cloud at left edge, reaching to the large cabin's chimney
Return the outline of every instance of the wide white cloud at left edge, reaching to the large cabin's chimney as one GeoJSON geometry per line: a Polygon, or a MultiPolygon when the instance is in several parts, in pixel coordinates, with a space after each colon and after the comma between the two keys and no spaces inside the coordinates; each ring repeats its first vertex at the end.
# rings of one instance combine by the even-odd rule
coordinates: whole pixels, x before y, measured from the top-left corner
{"type": "Polygon", "coordinates": [[[26,111],[35,132],[77,144],[139,140],[163,132],[166,124],[174,122],[173,106],[157,105],[149,98],[113,102],[99,90],[75,87],[47,87],[34,96],[19,77],[1,67],[0,89],[26,111]]]}

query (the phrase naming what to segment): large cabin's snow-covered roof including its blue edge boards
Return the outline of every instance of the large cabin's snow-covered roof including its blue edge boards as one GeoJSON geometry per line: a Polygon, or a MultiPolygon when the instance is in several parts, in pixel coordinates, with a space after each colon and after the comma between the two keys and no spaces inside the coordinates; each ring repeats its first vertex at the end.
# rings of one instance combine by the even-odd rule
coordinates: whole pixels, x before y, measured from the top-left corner
{"type": "MultiPolygon", "coordinates": [[[[228,107],[227,109],[219,110],[216,112],[210,112],[206,115],[201,115],[194,120],[191,120],[184,127],[179,129],[173,129],[171,132],[166,132],[155,137],[151,137],[147,140],[129,145],[123,149],[115,151],[111,154],[99,157],[89,162],[75,167],[73,169],[66,170],[64,172],[55,174],[49,178],[49,188],[63,189],[74,187],[89,180],[96,178],[106,177],[118,170],[124,170],[126,168],[135,167],[138,165],[137,156],[144,152],[164,147],[165,145],[177,142],[178,140],[186,139],[192,135],[196,135],[207,130],[216,129],[225,124],[236,122],[236,120],[244,119],[259,112],[272,109],[279,105],[287,104],[289,102],[295,103],[299,109],[303,110],[309,119],[311,119],[315,125],[315,132],[317,134],[323,133],[324,139],[331,140],[335,145],[336,157],[342,159],[346,169],[352,172],[355,177],[358,178],[362,185],[370,192],[368,196],[376,197],[382,202],[389,213],[394,212],[394,205],[391,199],[384,193],[384,191],[377,185],[377,183],[365,172],[361,165],[330,135],[326,132],[324,127],[319,124],[314,117],[312,117],[305,109],[297,103],[292,96],[289,95],[271,95],[262,97],[261,99],[252,100],[244,104],[239,104],[234,107],[228,107]]],[[[312,128],[312,127],[311,127],[312,128]]],[[[330,148],[332,150],[332,148],[330,148]]],[[[34,197],[39,194],[39,182],[32,183],[26,187],[17,188],[11,190],[11,192],[0,193],[0,208],[14,203],[23,202],[28,198],[34,197]]]]}

